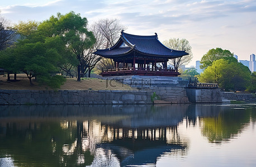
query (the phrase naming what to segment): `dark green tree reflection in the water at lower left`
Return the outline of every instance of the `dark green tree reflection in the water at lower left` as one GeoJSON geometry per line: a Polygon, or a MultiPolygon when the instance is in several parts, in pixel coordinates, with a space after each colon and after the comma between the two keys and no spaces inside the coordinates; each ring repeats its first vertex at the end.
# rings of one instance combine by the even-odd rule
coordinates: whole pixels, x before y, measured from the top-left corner
{"type": "Polygon", "coordinates": [[[69,123],[65,127],[58,121],[6,122],[6,134],[0,137],[1,156],[10,155],[17,166],[91,164],[93,155],[80,149],[79,126],[69,123]]]}

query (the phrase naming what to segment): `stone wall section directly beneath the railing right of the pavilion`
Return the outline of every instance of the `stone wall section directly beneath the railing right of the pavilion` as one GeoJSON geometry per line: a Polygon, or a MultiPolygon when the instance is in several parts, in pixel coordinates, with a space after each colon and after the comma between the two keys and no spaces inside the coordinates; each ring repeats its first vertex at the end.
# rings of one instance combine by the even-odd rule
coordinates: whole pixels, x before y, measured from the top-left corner
{"type": "Polygon", "coordinates": [[[219,89],[186,89],[191,102],[222,102],[219,89]]]}

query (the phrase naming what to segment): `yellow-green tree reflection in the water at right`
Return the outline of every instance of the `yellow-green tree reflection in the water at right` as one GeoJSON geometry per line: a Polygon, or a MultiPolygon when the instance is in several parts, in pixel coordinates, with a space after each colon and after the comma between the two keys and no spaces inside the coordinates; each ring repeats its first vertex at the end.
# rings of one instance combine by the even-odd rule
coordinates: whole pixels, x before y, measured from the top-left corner
{"type": "Polygon", "coordinates": [[[250,110],[226,110],[215,117],[202,117],[202,134],[212,143],[221,143],[239,134],[250,122],[250,110]]]}

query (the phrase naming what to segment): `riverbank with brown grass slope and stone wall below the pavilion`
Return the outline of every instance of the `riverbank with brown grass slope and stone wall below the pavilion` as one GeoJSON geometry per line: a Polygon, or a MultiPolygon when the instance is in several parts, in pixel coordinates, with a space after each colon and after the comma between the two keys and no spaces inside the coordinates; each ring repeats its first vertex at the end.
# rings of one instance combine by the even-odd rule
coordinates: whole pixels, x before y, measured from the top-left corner
{"type": "MultiPolygon", "coordinates": [[[[134,84],[134,81],[132,80],[131,83],[134,84]]],[[[144,80],[140,82],[145,82],[142,81],[144,80]]],[[[190,102],[221,103],[225,100],[253,100],[254,98],[250,94],[236,95],[220,92],[219,89],[191,89],[178,84],[152,86],[153,79],[149,81],[151,85],[146,85],[148,87],[144,85],[130,87],[115,80],[84,78],[81,82],[77,82],[74,78],[68,78],[65,85],[58,91],[47,90],[42,86],[37,89],[38,85],[30,86],[31,90],[18,90],[17,87],[4,90],[6,87],[3,86],[3,82],[0,82],[0,105],[186,104],[190,102]]],[[[15,84],[20,85],[18,88],[21,88],[21,83],[22,81],[16,81],[15,84]]]]}

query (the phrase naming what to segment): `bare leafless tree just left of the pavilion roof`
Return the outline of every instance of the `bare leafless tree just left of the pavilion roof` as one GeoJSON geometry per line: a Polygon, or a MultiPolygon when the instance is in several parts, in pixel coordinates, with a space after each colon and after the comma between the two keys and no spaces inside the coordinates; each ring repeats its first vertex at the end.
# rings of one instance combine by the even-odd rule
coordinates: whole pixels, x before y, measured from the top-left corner
{"type": "MultiPolygon", "coordinates": [[[[102,57],[94,55],[93,52],[96,49],[105,49],[110,48],[117,42],[121,30],[125,30],[126,27],[122,26],[118,19],[100,19],[98,22],[94,22],[89,30],[93,32],[94,37],[96,38],[96,43],[89,50],[84,51],[83,55],[83,68],[82,73],[88,73],[88,77],[91,77],[92,69],[98,65],[103,64],[102,57]]],[[[109,62],[109,61],[107,61],[109,62]]],[[[111,65],[113,66],[113,62],[111,65]]]]}

